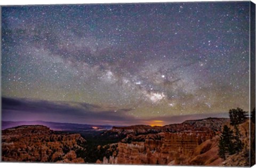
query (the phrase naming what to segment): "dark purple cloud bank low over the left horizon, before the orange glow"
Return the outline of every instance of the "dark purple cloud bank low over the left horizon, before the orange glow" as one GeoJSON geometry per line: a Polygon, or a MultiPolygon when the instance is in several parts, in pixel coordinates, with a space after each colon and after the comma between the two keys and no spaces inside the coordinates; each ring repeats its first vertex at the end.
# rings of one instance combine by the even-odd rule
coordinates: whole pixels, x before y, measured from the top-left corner
{"type": "Polygon", "coordinates": [[[53,102],[18,98],[2,98],[4,121],[44,120],[86,124],[109,124],[133,121],[126,113],[132,109],[111,110],[76,102],[53,102]]]}

